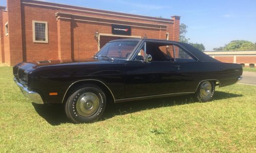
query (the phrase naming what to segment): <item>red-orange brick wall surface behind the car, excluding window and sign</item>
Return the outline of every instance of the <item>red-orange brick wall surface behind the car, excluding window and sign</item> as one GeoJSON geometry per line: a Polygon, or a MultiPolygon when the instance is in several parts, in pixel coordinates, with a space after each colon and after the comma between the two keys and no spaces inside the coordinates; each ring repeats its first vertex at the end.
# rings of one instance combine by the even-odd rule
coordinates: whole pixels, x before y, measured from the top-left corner
{"type": "MultiPolygon", "coordinates": [[[[7,5],[8,16],[5,19],[3,17],[3,21],[9,20],[10,33],[6,37],[8,39],[4,39],[4,62],[11,65],[22,61],[78,59],[78,50],[80,59],[90,58],[98,51],[94,33],[98,30],[99,33],[111,34],[111,24],[73,20],[78,17],[72,15],[68,16],[72,19],[56,19],[57,12],[80,15],[79,18],[92,16],[116,19],[119,20],[116,21],[118,23],[132,21],[134,24],[131,27],[132,36],[143,38],[146,34],[147,38],[166,39],[168,32],[169,40],[179,40],[178,16],[174,16],[172,19],[160,19],[32,0],[23,0],[22,2],[7,0],[7,5]],[[33,20],[48,22],[48,43],[33,42],[33,20]],[[167,27],[167,30],[135,26],[142,23],[151,24],[152,27],[164,24],[161,28],[167,27]]],[[[7,12],[4,13],[7,14],[7,12]]]]}

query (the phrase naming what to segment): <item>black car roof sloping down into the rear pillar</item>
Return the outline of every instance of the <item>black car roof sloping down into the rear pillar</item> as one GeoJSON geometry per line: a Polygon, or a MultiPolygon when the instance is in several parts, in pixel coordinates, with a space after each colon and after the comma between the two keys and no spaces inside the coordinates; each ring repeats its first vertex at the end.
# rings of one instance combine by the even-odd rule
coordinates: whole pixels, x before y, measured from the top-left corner
{"type": "Polygon", "coordinates": [[[184,47],[190,54],[195,56],[199,61],[202,62],[220,62],[205,53],[201,52],[199,49],[195,48],[194,46],[184,43],[184,42],[179,42],[179,41],[170,41],[170,40],[165,40],[165,39],[147,39],[147,38],[126,38],[126,39],[116,39],[112,40],[110,42],[115,42],[115,41],[159,41],[159,42],[166,42],[166,43],[176,43],[184,47]]]}

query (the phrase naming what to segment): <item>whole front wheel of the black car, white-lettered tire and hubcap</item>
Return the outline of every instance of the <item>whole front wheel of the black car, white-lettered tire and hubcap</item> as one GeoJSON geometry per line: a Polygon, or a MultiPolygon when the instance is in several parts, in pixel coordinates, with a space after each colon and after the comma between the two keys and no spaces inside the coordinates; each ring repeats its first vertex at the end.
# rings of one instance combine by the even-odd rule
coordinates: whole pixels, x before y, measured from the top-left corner
{"type": "Polygon", "coordinates": [[[97,121],[106,107],[106,96],[96,86],[77,89],[65,104],[67,117],[74,123],[97,121]]]}

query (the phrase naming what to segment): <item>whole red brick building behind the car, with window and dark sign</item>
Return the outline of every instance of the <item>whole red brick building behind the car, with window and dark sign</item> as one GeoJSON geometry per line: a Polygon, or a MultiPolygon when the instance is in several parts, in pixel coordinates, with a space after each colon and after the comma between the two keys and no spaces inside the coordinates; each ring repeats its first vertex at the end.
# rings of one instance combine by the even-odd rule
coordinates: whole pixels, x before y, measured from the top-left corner
{"type": "Polygon", "coordinates": [[[7,0],[7,8],[0,10],[0,61],[9,65],[90,58],[118,38],[179,41],[179,16],[165,19],[34,0],[7,0]]]}

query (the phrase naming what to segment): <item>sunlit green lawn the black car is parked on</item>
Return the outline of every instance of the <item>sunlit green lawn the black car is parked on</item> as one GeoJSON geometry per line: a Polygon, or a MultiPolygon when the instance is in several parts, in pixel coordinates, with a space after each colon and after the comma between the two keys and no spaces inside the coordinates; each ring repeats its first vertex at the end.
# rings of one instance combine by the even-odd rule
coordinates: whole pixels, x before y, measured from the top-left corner
{"type": "Polygon", "coordinates": [[[256,86],[108,107],[103,119],[70,123],[60,106],[29,103],[0,67],[0,152],[256,152],[256,86]]]}

